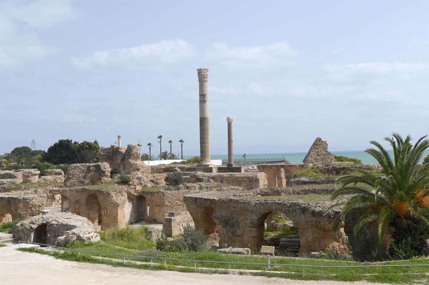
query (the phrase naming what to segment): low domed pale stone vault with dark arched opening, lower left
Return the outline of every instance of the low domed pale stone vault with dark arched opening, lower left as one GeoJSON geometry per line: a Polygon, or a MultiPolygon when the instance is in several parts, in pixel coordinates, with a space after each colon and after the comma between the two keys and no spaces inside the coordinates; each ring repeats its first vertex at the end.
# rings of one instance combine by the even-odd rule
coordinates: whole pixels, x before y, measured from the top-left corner
{"type": "Polygon", "coordinates": [[[55,245],[57,237],[76,234],[77,240],[97,242],[97,229],[85,217],[73,213],[48,213],[33,216],[14,225],[12,234],[19,240],[55,245]]]}

